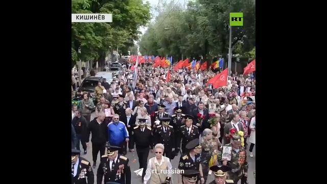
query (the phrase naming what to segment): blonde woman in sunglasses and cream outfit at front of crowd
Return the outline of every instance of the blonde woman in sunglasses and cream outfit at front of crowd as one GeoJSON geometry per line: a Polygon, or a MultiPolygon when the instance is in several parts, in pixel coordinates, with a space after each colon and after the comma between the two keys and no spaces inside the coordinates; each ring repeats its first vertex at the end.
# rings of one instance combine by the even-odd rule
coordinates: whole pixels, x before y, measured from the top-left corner
{"type": "Polygon", "coordinates": [[[172,177],[172,172],[168,170],[172,170],[173,166],[168,157],[162,156],[164,150],[165,146],[163,144],[156,144],[154,146],[155,157],[149,159],[147,170],[156,171],[156,173],[147,172],[144,176],[143,184],[147,184],[149,180],[149,184],[166,183],[166,180],[172,177]]]}

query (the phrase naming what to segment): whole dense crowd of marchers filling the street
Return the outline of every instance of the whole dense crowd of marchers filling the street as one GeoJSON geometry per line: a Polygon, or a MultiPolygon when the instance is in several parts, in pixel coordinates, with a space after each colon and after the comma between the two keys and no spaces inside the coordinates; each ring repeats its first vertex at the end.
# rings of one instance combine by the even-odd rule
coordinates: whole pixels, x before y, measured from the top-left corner
{"type": "MultiPolygon", "coordinates": [[[[183,68],[168,77],[167,69],[148,63],[141,68],[136,81],[127,69],[111,84],[99,82],[96,104],[83,92],[72,105],[72,183],[94,183],[93,169],[99,184],[103,176],[105,183],[135,183],[126,156],[135,150],[139,169],[158,171],[171,170],[171,160],[180,153],[178,169],[184,173],[178,183],[247,183],[247,156],[253,157],[255,146],[254,75],[232,74],[225,86],[213,89],[207,84],[213,71],[183,68]],[[80,153],[80,143],[87,153],[90,134],[92,164],[80,153]],[[231,148],[229,159],[225,148],[231,148]],[[148,159],[153,151],[155,157],[148,159]],[[209,182],[211,173],[215,180],[209,182]]],[[[142,181],[169,183],[172,175],[166,173],[143,172],[142,181]]]]}

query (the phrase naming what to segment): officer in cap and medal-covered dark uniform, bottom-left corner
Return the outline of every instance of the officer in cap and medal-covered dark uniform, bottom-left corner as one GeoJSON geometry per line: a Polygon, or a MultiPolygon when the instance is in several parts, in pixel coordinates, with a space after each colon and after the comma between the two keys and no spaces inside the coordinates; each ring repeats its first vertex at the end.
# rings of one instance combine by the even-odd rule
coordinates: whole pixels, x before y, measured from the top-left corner
{"type": "Polygon", "coordinates": [[[91,164],[79,154],[80,150],[72,149],[72,184],[93,184],[94,174],[91,164]]]}

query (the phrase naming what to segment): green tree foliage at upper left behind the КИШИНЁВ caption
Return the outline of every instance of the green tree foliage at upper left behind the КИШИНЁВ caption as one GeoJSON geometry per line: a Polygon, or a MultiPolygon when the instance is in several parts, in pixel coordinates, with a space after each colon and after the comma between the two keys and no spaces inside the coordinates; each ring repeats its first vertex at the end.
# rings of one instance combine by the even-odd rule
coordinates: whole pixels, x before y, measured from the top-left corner
{"type": "Polygon", "coordinates": [[[150,5],[142,0],[72,0],[72,13],[112,13],[113,20],[72,23],[73,64],[78,59],[103,61],[105,53],[117,47],[126,55],[139,39],[139,26],[150,20],[150,5]]]}

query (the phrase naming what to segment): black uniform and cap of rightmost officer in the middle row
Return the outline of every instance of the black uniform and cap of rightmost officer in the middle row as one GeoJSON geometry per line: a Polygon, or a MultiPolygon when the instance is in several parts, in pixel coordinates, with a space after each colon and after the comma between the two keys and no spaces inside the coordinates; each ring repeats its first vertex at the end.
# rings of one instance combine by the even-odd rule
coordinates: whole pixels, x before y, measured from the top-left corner
{"type": "MultiPolygon", "coordinates": [[[[193,116],[186,114],[184,116],[185,121],[193,121],[193,116]]],[[[190,141],[194,140],[194,139],[199,139],[199,129],[197,126],[192,125],[191,127],[188,128],[186,127],[186,125],[182,125],[180,128],[180,135],[181,135],[181,140],[182,140],[182,152],[185,153],[186,149],[185,146],[186,144],[188,144],[190,141]]]]}

